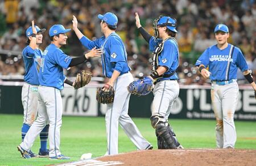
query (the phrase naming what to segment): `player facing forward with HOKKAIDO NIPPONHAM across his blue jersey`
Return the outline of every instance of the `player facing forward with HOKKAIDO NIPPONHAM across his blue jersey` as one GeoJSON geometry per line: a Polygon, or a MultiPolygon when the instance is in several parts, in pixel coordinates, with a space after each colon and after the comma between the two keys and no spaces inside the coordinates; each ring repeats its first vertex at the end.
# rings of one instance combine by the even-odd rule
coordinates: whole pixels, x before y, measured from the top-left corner
{"type": "Polygon", "coordinates": [[[196,61],[196,66],[199,66],[199,71],[204,78],[212,81],[210,94],[217,122],[217,147],[234,148],[237,139],[234,125],[238,97],[237,68],[240,68],[255,92],[256,85],[241,50],[228,43],[228,27],[218,24],[214,34],[217,44],[210,46],[201,54],[196,61]],[[207,66],[209,71],[206,69],[207,66]]]}

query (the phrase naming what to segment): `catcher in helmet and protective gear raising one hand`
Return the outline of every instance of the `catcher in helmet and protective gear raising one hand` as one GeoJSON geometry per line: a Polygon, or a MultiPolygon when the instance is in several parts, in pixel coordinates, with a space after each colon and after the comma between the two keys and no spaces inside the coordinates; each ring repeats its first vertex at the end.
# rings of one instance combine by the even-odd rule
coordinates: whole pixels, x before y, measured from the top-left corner
{"type": "Polygon", "coordinates": [[[176,19],[160,16],[154,20],[155,37],[142,27],[139,15],[135,12],[136,26],[149,43],[152,53],[152,74],[142,79],[154,82],[154,100],[151,125],[156,129],[158,148],[183,148],[168,124],[172,105],[179,96],[176,69],[179,66],[179,49],[176,39],[176,19]]]}

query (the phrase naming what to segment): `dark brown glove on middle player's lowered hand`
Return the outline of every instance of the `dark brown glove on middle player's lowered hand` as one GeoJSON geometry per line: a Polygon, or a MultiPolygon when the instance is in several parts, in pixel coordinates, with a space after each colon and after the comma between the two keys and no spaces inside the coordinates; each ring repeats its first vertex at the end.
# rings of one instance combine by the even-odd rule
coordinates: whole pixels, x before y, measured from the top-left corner
{"type": "Polygon", "coordinates": [[[112,104],[114,102],[115,91],[112,86],[105,84],[104,87],[98,87],[96,100],[101,104],[112,104]]]}

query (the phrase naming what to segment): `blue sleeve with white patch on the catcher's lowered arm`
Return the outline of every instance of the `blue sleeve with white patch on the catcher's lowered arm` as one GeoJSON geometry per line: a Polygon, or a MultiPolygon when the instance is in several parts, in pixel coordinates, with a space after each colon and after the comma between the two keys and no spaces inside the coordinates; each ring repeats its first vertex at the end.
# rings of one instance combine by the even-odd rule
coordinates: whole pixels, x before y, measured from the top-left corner
{"type": "Polygon", "coordinates": [[[172,63],[174,63],[174,60],[176,58],[177,58],[176,46],[170,40],[165,41],[158,65],[166,66],[169,69],[172,66],[172,63]]]}

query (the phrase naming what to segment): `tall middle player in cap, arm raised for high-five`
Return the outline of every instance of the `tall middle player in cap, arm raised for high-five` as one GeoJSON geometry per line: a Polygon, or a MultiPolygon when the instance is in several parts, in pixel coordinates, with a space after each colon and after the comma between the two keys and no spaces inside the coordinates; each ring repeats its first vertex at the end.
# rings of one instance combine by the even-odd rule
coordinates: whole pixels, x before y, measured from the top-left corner
{"type": "Polygon", "coordinates": [[[117,16],[112,12],[99,14],[101,19],[101,32],[104,36],[97,40],[89,40],[77,28],[77,19],[73,16],[73,29],[82,45],[88,49],[101,48],[103,74],[109,78],[105,87],[112,86],[115,90],[113,104],[108,104],[105,116],[108,148],[106,155],[118,154],[118,122],[126,135],[135,144],[138,150],[151,149],[152,146],[144,139],[128,115],[130,93],[127,91],[129,83],[133,82],[131,69],[127,64],[127,53],[122,39],[115,33],[117,29],[117,16]]]}

